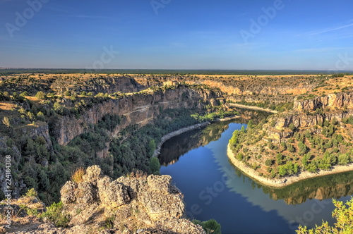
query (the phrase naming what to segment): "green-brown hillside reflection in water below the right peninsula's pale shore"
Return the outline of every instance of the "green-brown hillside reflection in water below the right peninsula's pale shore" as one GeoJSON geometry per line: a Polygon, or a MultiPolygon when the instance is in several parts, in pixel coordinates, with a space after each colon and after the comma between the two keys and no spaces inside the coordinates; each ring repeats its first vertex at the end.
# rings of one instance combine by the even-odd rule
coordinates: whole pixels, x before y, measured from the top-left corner
{"type": "MultiPolygon", "coordinates": [[[[236,173],[239,177],[244,176],[239,170],[236,173]]],[[[353,195],[353,171],[302,180],[280,189],[253,182],[255,187],[262,187],[263,192],[275,201],[283,199],[285,203],[294,205],[304,203],[307,199],[340,199],[353,195]]]]}

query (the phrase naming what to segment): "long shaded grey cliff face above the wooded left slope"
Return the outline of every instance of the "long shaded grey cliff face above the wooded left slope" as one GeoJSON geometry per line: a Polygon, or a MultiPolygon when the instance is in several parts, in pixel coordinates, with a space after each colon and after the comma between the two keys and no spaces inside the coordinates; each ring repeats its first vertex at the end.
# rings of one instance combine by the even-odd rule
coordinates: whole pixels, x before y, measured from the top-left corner
{"type": "Polygon", "coordinates": [[[68,116],[59,118],[54,123],[52,135],[59,144],[67,144],[77,135],[84,133],[88,125],[97,124],[108,113],[126,117],[124,125],[118,126],[120,129],[129,124],[148,123],[160,113],[160,109],[191,108],[195,102],[198,103],[198,100],[215,97],[219,97],[219,94],[209,90],[178,87],[164,92],[146,92],[127,95],[121,99],[108,99],[101,104],[95,104],[78,119],[68,116]]]}

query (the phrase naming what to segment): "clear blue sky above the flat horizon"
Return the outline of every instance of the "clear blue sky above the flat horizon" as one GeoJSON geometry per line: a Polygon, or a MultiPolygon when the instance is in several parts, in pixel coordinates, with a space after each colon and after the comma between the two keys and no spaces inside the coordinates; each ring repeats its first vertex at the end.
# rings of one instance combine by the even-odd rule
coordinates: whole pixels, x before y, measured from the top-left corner
{"type": "Polygon", "coordinates": [[[0,67],[353,70],[352,0],[38,1],[0,0],[0,67]]]}

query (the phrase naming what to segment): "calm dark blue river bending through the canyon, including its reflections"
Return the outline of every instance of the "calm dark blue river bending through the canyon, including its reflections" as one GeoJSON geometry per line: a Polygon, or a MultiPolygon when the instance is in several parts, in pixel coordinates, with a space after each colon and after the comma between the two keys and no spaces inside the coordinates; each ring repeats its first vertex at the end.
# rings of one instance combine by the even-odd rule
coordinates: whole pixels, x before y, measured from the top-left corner
{"type": "MultiPolygon", "coordinates": [[[[333,225],[332,198],[353,194],[353,172],[304,180],[285,189],[262,186],[244,176],[227,157],[227,144],[244,120],[213,123],[165,142],[162,175],[184,193],[187,216],[221,224],[222,233],[295,233],[299,224],[333,225]]],[[[246,125],[245,125],[246,127],[246,125]]]]}

